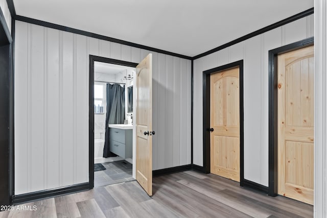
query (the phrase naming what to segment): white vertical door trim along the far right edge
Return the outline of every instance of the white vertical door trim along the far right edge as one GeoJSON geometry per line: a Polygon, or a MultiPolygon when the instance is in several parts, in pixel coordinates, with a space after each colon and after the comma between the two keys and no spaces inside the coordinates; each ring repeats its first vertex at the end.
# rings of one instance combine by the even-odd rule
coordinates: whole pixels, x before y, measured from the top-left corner
{"type": "Polygon", "coordinates": [[[315,0],[314,217],[327,217],[327,3],[315,0]]]}

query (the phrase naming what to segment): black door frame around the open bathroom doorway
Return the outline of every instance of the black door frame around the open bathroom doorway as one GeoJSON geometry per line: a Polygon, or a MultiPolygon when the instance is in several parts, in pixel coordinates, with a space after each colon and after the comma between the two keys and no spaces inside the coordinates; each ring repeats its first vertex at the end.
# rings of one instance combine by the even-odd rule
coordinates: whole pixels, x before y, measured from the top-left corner
{"type": "Polygon", "coordinates": [[[138,63],[89,55],[88,70],[88,180],[89,189],[94,187],[94,62],[104,62],[122,66],[136,67],[138,63]]]}

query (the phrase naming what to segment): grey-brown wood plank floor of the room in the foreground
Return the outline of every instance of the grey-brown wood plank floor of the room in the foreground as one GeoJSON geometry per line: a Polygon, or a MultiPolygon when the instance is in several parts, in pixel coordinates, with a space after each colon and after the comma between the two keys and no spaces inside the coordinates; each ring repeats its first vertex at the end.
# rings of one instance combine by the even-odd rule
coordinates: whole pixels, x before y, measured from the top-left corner
{"type": "MultiPolygon", "coordinates": [[[[2,211],[5,217],[313,217],[311,205],[268,197],[239,183],[186,171],[153,178],[153,197],[136,181],[94,188],[2,211]]],[[[20,205],[19,205],[20,206],[20,205]]]]}

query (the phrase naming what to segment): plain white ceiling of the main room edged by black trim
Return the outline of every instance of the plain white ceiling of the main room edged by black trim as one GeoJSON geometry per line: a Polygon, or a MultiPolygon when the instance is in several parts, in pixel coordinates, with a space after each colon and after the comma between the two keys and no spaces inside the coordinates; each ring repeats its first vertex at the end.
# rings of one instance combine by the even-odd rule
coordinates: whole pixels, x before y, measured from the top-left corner
{"type": "Polygon", "coordinates": [[[196,56],[310,9],[313,0],[13,0],[16,14],[196,56]]]}

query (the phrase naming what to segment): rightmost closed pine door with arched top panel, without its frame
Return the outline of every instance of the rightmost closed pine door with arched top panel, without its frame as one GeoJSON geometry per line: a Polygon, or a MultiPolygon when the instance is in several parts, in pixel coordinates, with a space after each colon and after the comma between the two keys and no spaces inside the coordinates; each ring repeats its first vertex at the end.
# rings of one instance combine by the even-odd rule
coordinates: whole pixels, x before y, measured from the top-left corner
{"type": "Polygon", "coordinates": [[[313,204],[314,49],[278,56],[278,194],[313,204]]]}

